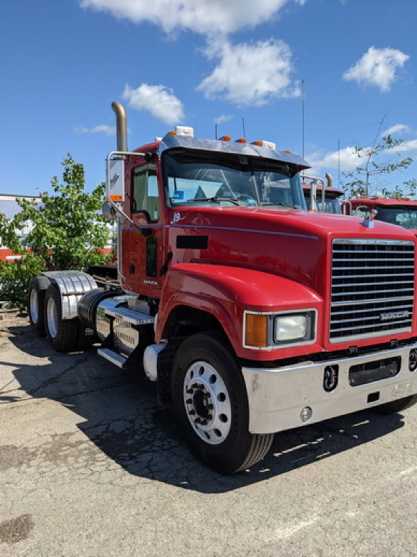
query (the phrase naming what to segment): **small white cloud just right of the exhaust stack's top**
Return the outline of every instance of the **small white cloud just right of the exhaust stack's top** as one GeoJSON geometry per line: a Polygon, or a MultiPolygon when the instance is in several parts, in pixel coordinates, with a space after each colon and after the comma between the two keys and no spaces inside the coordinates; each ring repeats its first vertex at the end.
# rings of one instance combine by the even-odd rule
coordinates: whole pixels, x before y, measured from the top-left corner
{"type": "Polygon", "coordinates": [[[184,120],[184,105],[174,95],[172,89],[164,85],[143,83],[137,89],[126,85],[122,95],[129,106],[136,110],[146,110],[165,124],[179,124],[184,120]]]}

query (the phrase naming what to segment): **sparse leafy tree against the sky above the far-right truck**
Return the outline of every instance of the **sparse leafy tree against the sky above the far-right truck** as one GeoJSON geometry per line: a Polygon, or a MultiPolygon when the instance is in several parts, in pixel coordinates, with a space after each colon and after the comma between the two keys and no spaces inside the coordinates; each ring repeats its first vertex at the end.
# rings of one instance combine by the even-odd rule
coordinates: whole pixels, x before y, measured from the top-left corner
{"type": "Polygon", "coordinates": [[[412,196],[417,189],[417,180],[408,180],[402,184],[386,187],[386,177],[393,172],[406,170],[413,159],[401,157],[399,146],[403,139],[394,139],[390,135],[375,138],[371,147],[355,147],[355,154],[362,164],[351,172],[343,172],[341,185],[347,198],[369,197],[381,192],[385,197],[412,196]]]}

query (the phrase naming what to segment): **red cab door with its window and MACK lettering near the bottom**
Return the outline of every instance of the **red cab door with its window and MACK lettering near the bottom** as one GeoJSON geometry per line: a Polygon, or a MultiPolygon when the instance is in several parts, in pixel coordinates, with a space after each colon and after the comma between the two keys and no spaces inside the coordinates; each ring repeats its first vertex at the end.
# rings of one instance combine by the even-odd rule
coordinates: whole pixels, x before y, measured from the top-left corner
{"type": "Polygon", "coordinates": [[[135,294],[160,296],[159,270],[163,265],[163,210],[153,163],[131,171],[129,256],[125,258],[126,286],[135,294]]]}

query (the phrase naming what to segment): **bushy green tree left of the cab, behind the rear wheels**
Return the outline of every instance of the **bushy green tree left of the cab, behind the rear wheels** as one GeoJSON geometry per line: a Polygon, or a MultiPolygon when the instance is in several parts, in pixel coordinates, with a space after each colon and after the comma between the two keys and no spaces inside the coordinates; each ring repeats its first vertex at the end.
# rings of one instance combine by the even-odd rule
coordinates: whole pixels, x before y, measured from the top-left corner
{"type": "Polygon", "coordinates": [[[43,270],[84,269],[109,260],[102,249],[109,243],[106,219],[99,213],[105,185],[85,192],[84,166],[70,155],[62,162],[62,183],[52,178],[53,194],[41,194],[39,204],[19,199],[21,212],[12,219],[0,213],[0,244],[22,254],[16,262],[0,262],[0,298],[23,307],[28,281],[43,270]],[[31,221],[24,243],[19,232],[31,221]]]}

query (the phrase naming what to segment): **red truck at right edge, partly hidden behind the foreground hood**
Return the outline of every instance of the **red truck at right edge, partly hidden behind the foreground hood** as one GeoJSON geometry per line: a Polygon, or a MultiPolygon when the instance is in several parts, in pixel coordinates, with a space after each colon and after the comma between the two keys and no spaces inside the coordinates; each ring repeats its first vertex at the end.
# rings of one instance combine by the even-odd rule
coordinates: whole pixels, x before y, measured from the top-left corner
{"type": "Polygon", "coordinates": [[[376,195],[372,199],[349,199],[342,203],[342,208],[344,214],[356,217],[367,217],[375,211],[377,221],[397,224],[417,235],[417,201],[409,197],[388,199],[376,195]]]}

